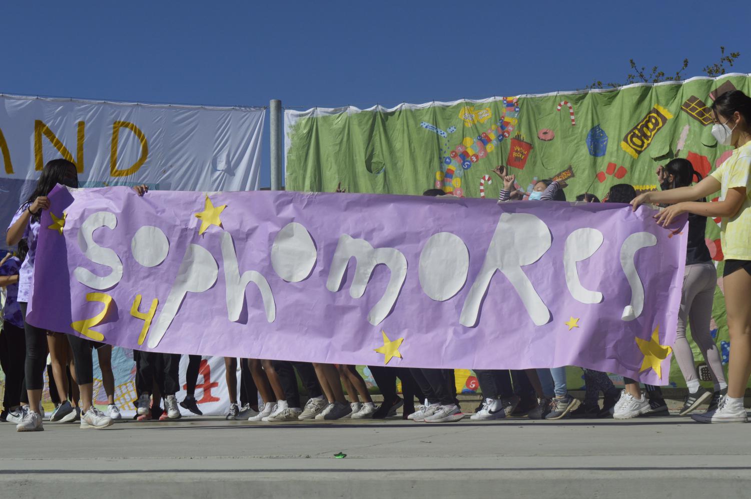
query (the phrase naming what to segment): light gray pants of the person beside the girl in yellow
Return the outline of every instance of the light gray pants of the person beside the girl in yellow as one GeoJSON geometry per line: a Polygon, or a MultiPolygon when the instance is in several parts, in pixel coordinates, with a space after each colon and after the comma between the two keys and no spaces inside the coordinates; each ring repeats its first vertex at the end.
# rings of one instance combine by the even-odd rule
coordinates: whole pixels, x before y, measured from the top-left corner
{"type": "Polygon", "coordinates": [[[712,320],[712,302],[714,288],[717,284],[717,271],[711,262],[694,263],[686,266],[683,273],[683,298],[678,311],[678,330],[673,350],[686,381],[697,380],[698,373],[694,363],[694,354],[686,339],[686,324],[691,325],[691,337],[701,350],[701,355],[709,365],[715,389],[719,383],[725,383],[722,360],[717,345],[710,335],[712,320]]]}

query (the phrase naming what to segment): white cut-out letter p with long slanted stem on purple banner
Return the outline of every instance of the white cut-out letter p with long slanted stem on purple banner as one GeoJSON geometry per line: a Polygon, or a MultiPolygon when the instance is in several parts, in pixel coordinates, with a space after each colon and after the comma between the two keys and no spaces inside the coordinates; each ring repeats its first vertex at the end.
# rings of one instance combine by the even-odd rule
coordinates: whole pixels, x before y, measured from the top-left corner
{"type": "Polygon", "coordinates": [[[211,253],[199,245],[189,245],[177,270],[177,277],[172,284],[161,314],[152,326],[149,334],[149,348],[155,348],[167,332],[187,293],[203,293],[214,285],[219,275],[219,266],[211,253]]]}

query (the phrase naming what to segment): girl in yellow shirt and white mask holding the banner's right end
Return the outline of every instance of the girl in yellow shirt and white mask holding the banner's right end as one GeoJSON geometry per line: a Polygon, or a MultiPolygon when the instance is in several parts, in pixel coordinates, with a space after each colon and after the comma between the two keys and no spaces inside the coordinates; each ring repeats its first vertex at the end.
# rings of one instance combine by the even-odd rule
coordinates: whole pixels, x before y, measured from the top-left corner
{"type": "Polygon", "coordinates": [[[728,392],[715,410],[692,418],[698,422],[746,422],[743,394],[751,375],[751,98],[739,90],[726,92],[714,101],[712,112],[712,134],[719,145],[733,146],[731,157],[696,185],[641,194],[632,205],[636,209],[643,203],[671,204],[655,215],[662,225],[682,213],[722,217],[723,281],[730,330],[728,392]],[[722,196],[716,203],[694,201],[718,190],[722,196]]]}

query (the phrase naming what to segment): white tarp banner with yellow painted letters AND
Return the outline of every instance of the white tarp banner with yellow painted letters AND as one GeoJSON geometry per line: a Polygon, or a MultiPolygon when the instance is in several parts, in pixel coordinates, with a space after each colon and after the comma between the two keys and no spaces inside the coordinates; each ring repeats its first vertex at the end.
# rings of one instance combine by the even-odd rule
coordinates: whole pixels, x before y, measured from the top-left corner
{"type": "Polygon", "coordinates": [[[265,109],[125,104],[0,95],[0,224],[47,161],[66,158],[81,187],[169,191],[260,187],[265,109]]]}

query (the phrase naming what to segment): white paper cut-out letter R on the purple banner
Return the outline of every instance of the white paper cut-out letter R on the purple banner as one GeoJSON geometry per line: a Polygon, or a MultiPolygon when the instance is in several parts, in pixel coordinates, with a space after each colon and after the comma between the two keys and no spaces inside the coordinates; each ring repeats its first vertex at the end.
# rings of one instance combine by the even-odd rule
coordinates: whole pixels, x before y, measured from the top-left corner
{"type": "Polygon", "coordinates": [[[496,270],[503,272],[536,326],[550,321],[550,311],[521,269],[539,260],[550,248],[550,230],[544,221],[529,213],[503,213],[487,248],[485,261],[472,289],[464,300],[459,322],[472,327],[477,324],[482,297],[490,286],[496,270]]]}

